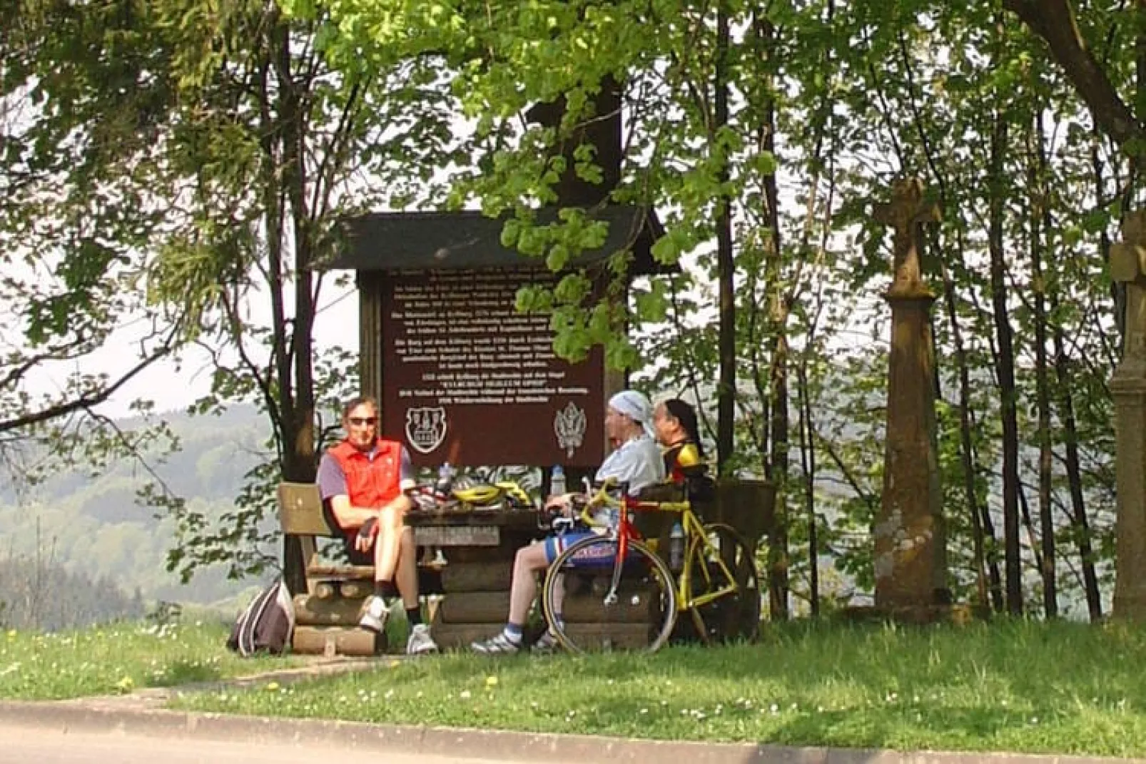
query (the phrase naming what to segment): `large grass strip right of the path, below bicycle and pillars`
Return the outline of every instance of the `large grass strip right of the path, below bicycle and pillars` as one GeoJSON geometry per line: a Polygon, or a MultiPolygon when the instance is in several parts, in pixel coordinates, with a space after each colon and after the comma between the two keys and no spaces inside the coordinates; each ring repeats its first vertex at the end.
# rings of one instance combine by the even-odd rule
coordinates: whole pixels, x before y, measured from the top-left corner
{"type": "Polygon", "coordinates": [[[756,645],[450,654],[173,704],[670,740],[1143,756],[1144,667],[1146,636],[1120,624],[793,624],[756,645]]]}

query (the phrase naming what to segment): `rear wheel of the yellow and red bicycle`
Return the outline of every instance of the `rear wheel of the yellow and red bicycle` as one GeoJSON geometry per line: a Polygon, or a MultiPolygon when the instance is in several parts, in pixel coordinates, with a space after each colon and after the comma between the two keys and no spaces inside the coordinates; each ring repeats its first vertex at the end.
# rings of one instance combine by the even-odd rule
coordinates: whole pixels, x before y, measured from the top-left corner
{"type": "Polygon", "coordinates": [[[752,548],[731,526],[709,522],[690,544],[685,575],[697,636],[705,643],[752,641],[760,635],[760,575],[752,548]],[[707,543],[705,543],[707,539],[707,543]]]}

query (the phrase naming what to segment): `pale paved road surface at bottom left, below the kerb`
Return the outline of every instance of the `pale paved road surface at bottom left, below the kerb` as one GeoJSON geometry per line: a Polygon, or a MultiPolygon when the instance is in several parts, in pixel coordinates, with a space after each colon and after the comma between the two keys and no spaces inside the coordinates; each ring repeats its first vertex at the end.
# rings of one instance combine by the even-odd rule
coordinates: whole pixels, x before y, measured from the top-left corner
{"type": "MultiPolygon", "coordinates": [[[[361,759],[379,764],[490,764],[489,759],[411,754],[348,753],[303,746],[54,732],[0,724],[0,762],[15,764],[321,764],[361,759]]],[[[537,764],[541,764],[539,761],[537,764]]],[[[547,762],[545,764],[551,764],[547,762]]]]}

